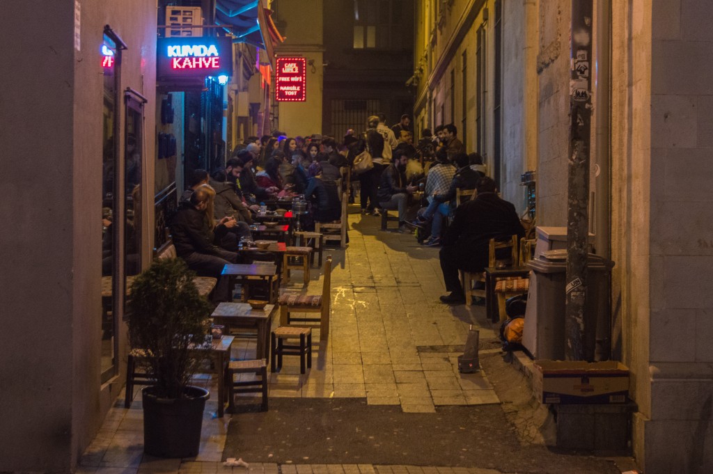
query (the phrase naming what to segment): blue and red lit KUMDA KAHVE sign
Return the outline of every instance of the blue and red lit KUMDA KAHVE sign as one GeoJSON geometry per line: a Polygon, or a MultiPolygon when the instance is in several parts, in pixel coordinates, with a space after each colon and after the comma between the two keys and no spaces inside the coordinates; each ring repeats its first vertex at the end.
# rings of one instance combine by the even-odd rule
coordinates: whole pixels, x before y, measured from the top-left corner
{"type": "Polygon", "coordinates": [[[232,76],[230,38],[158,38],[157,80],[232,76]]]}

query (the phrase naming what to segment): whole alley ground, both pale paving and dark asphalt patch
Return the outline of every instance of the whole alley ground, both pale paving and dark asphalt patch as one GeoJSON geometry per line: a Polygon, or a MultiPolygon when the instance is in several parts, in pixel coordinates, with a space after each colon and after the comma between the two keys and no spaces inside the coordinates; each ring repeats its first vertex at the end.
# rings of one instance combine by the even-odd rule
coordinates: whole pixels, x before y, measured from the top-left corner
{"type": "MultiPolygon", "coordinates": [[[[241,413],[217,418],[215,375],[199,376],[195,384],[211,390],[200,454],[153,458],[143,453],[137,388],[130,409],[118,398],[77,472],[616,474],[630,465],[617,459],[619,470],[611,459],[546,448],[538,429],[546,410],[535,407],[529,384],[503,357],[484,307],[438,302],[438,248],[379,230],[379,219],[358,207],[350,212],[346,252],[326,252],[334,257],[329,340],[315,335],[312,369],[303,376],[296,357],[271,374],[269,411],[245,398],[241,413]],[[483,370],[461,374],[456,358],[470,324],[480,331],[483,370]],[[250,467],[225,467],[227,458],[250,467]]],[[[314,269],[309,292],[320,291],[322,278],[314,269]]],[[[255,339],[234,347],[234,358],[250,358],[255,339]]]]}

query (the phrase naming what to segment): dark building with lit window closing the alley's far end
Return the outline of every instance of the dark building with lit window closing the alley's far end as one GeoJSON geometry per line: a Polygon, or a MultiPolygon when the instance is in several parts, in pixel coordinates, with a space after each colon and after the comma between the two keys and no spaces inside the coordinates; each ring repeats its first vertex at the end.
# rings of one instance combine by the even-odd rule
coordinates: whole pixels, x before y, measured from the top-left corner
{"type": "Polygon", "coordinates": [[[339,139],[366,130],[369,115],[382,112],[391,126],[411,113],[414,3],[324,2],[324,133],[339,139]]]}

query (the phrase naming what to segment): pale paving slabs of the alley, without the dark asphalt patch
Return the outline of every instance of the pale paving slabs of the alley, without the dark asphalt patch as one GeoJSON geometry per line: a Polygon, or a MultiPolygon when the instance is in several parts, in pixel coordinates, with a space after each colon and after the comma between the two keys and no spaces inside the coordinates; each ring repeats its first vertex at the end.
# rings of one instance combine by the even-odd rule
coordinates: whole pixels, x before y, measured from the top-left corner
{"type": "MultiPolygon", "coordinates": [[[[358,207],[352,207],[358,212],[358,207]]],[[[486,373],[458,373],[456,349],[468,327],[481,341],[496,338],[481,306],[447,306],[438,248],[422,247],[412,235],[379,230],[378,217],[349,215],[347,251],[329,249],[332,272],[332,318],[328,341],[314,335],[309,373],[299,374],[297,358],[286,358],[270,376],[270,397],[357,397],[374,405],[400,405],[404,412],[433,413],[436,406],[499,403],[486,373]],[[317,343],[319,341],[319,343],[317,343]],[[291,360],[292,359],[292,360],[291,360]]],[[[320,293],[323,276],[312,270],[308,292],[320,293]]],[[[300,281],[298,277],[295,279],[300,281]]],[[[294,281],[294,280],[293,280],[294,281]]],[[[300,290],[302,285],[290,289],[300,290]]],[[[279,321],[275,321],[277,324],[279,321]]],[[[232,356],[255,356],[255,340],[235,344],[232,356]]],[[[193,381],[216,393],[215,376],[193,381]]],[[[160,459],[143,454],[140,391],[129,409],[123,396],[109,411],[77,470],[81,474],[264,473],[264,474],[498,474],[482,468],[409,465],[311,465],[251,463],[250,468],[222,465],[230,415],[217,418],[215,397],[208,401],[200,453],[191,459],[160,459]]],[[[235,415],[240,416],[240,415],[235,415]]],[[[247,460],[250,462],[250,460],[247,460]]],[[[557,472],[553,470],[553,472],[557,472]]]]}

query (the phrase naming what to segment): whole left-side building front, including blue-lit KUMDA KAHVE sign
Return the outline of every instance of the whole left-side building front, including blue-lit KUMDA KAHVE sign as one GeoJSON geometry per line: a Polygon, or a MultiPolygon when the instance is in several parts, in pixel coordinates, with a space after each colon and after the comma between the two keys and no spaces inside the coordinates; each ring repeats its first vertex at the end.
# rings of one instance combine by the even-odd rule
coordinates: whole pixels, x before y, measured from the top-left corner
{"type": "Polygon", "coordinates": [[[185,175],[267,127],[277,34],[257,1],[3,6],[0,470],[72,472],[125,384],[125,294],[185,175]],[[206,45],[230,76],[196,66],[206,45]]]}

